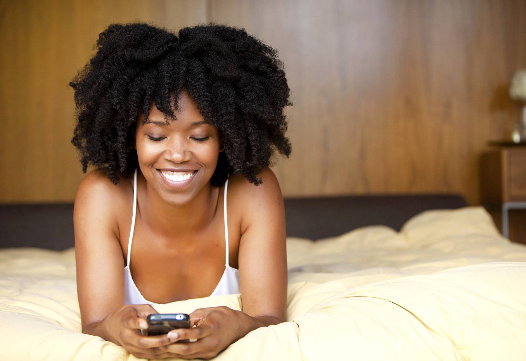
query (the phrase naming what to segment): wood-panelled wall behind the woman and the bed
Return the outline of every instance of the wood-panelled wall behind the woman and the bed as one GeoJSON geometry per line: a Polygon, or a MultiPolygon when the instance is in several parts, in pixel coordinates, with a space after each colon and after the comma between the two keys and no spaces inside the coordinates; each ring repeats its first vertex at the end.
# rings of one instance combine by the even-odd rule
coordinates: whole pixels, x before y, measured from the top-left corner
{"type": "Polygon", "coordinates": [[[479,204],[479,157],[510,138],[526,67],[526,2],[212,0],[0,5],[0,201],[71,201],[84,177],[73,90],[109,23],[245,27],[279,50],[294,106],[285,195],[459,192],[479,204]]]}

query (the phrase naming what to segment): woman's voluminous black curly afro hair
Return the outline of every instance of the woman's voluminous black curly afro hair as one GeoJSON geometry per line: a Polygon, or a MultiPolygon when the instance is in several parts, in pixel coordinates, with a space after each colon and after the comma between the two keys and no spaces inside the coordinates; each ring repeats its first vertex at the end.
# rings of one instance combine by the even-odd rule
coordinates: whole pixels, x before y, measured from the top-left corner
{"type": "Polygon", "coordinates": [[[258,185],[257,174],[271,164],[275,150],[289,156],[283,109],[292,103],[283,63],[277,50],[245,29],[210,23],[176,35],[146,23],[111,24],[96,48],[69,82],[78,118],[72,143],[84,173],[91,163],[114,184],[131,178],[138,164],[133,140],[139,115],[144,125],[155,101],[165,119],[175,118],[170,93],[183,87],[218,129],[225,149],[212,184],[232,173],[258,185]]]}

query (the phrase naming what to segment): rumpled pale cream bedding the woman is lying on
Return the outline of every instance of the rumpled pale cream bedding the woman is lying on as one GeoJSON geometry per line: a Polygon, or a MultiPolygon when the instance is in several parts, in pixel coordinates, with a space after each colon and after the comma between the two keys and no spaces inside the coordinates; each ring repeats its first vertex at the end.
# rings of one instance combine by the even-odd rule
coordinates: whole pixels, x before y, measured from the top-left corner
{"type": "MultiPolygon", "coordinates": [[[[526,360],[526,246],[482,207],[433,210],[395,232],[360,228],[287,240],[287,321],[250,332],[217,360],[526,360]]],[[[227,305],[239,295],[159,312],[227,305]]],[[[80,333],[74,250],[0,251],[0,359],[133,360],[80,333]]]]}

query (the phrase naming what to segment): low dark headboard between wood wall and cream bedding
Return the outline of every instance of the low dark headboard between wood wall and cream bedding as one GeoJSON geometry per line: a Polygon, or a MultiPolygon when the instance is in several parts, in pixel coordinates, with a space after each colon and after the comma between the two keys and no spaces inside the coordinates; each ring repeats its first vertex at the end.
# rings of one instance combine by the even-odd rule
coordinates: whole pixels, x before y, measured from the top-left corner
{"type": "MultiPolygon", "coordinates": [[[[422,211],[466,205],[459,194],[285,198],[287,236],[317,240],[367,225],[399,231],[422,211]]],[[[0,204],[0,248],[65,250],[73,246],[73,203],[0,204]]]]}

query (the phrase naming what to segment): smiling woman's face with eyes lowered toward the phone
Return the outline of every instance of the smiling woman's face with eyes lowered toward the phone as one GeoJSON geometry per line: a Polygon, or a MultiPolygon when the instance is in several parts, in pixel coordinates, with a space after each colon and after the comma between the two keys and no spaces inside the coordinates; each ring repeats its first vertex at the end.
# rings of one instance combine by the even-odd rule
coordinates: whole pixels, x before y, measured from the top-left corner
{"type": "Polygon", "coordinates": [[[148,122],[141,125],[144,115],[139,116],[135,132],[140,171],[161,198],[174,205],[187,204],[205,187],[222,151],[219,132],[204,121],[186,88],[178,104],[169,125],[153,104],[148,122]]]}

